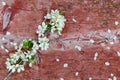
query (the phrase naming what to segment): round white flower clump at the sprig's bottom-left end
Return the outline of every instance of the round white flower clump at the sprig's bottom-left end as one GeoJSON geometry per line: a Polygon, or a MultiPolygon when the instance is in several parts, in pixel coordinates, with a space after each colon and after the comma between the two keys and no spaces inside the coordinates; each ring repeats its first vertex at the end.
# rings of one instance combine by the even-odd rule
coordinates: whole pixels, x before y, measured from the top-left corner
{"type": "Polygon", "coordinates": [[[24,64],[27,61],[25,55],[22,52],[16,52],[10,55],[10,58],[7,58],[6,65],[9,71],[21,72],[24,71],[24,64]]]}

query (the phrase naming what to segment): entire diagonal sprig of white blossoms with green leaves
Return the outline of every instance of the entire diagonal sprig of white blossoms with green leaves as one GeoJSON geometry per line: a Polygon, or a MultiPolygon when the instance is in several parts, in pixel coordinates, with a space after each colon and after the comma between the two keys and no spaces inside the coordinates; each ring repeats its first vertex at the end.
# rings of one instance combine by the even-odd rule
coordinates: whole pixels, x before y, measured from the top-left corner
{"type": "Polygon", "coordinates": [[[14,73],[24,71],[24,67],[29,63],[29,67],[32,67],[32,64],[35,62],[37,50],[47,50],[49,48],[49,39],[48,33],[58,33],[61,35],[61,32],[65,26],[65,17],[58,10],[51,10],[51,13],[48,13],[45,17],[45,22],[42,22],[38,26],[36,33],[38,34],[38,41],[32,39],[24,39],[19,46],[15,45],[17,51],[11,53],[10,57],[6,60],[7,69],[14,73]]]}

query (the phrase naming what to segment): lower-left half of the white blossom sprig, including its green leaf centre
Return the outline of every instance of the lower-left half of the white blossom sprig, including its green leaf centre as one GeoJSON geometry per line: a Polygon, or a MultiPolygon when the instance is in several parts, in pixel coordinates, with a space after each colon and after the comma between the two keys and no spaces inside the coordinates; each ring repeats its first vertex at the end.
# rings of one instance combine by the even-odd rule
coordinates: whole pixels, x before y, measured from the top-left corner
{"type": "Polygon", "coordinates": [[[29,62],[29,66],[32,67],[32,64],[35,62],[35,54],[38,49],[39,46],[36,41],[31,39],[23,40],[19,45],[19,49],[15,53],[10,54],[10,58],[7,58],[5,63],[7,69],[12,73],[15,71],[19,73],[24,71],[24,66],[27,62],[29,62]],[[26,47],[30,50],[24,50],[26,47]]]}

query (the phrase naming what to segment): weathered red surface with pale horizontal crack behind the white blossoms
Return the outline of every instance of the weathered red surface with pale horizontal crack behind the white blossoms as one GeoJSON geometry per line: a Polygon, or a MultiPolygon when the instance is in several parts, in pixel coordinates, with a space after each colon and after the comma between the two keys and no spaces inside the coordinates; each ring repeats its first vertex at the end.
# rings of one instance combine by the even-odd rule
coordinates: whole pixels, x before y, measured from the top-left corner
{"type": "MultiPolygon", "coordinates": [[[[12,11],[4,32],[2,20],[8,6],[0,1],[0,45],[9,52],[14,50],[10,41],[37,38],[37,25],[51,9],[64,12],[67,19],[62,35],[50,37],[49,50],[40,51],[40,64],[12,74],[9,80],[107,80],[113,78],[111,74],[120,79],[120,0],[4,0],[12,11]],[[11,35],[5,35],[7,31],[11,35]]],[[[0,80],[8,73],[5,60],[9,53],[5,49],[0,49],[0,80]]]]}

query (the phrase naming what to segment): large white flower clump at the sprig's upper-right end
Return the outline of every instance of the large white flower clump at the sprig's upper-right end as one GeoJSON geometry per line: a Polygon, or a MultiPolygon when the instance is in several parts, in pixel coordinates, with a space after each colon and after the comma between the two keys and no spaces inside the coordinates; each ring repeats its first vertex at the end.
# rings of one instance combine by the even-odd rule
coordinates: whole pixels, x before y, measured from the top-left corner
{"type": "Polygon", "coordinates": [[[57,31],[61,35],[66,21],[62,13],[58,10],[51,10],[51,13],[48,13],[44,18],[50,20],[51,32],[54,33],[57,31]]]}

